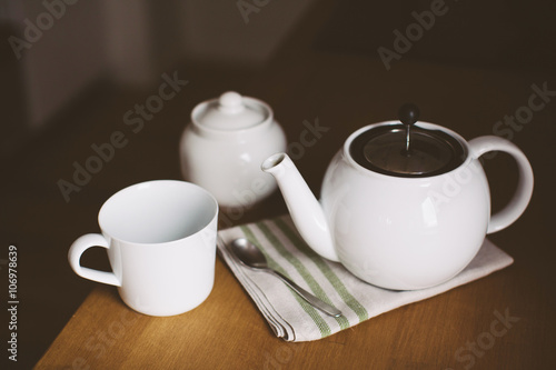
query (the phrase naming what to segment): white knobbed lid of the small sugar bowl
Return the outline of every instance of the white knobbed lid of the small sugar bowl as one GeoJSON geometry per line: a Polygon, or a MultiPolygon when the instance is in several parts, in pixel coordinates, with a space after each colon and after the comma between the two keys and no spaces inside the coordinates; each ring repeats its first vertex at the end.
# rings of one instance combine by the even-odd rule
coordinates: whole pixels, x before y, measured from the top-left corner
{"type": "Polygon", "coordinates": [[[235,91],[201,102],[191,112],[195,123],[224,131],[247,129],[267,121],[271,116],[270,107],[262,101],[242,97],[235,91]]]}

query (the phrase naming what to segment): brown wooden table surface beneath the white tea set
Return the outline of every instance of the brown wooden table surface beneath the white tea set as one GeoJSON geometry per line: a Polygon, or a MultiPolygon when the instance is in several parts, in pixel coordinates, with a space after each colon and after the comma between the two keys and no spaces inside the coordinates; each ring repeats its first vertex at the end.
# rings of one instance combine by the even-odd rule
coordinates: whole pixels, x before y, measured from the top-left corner
{"type": "MultiPolygon", "coordinates": [[[[423,120],[471,139],[496,133],[495,123],[528,107],[537,88],[556,91],[555,73],[546,70],[504,71],[401,59],[386,71],[376,57],[308,48],[304,42],[314,37],[311,32],[301,27],[297,38],[244,86],[242,92],[275,109],[290,142],[299,142],[306,129],[304,121],[318,120],[328,129],[296,159],[315,193],[319,192],[329,160],[347,136],[365,124],[395,119],[403,102],[417,103],[423,120]]],[[[190,91],[206,82],[199,76],[187,76],[190,91]]],[[[170,103],[163,117],[157,118],[172,129],[153,124],[148,138],[146,133],[133,142],[137,148],[148,148],[148,159],[122,154],[113,163],[115,169],[106,171],[116,173],[120,171],[116,167],[126,169],[128,164],[138,169],[133,164],[138,160],[156,163],[169,158],[177,169],[175,134],[181,130],[187,111],[196,102],[220,93],[208,88],[195,91],[182,98],[187,104],[170,103]]],[[[535,111],[526,124],[506,131],[529,158],[536,179],[524,216],[489,237],[515,258],[513,266],[322,340],[289,343],[274,336],[241,286],[217,259],[209,298],[197,309],[176,317],[136,313],[122,303],[116,288],[98,286],[37,369],[556,368],[556,246],[550,232],[555,221],[555,94],[544,97],[543,109],[535,111]]],[[[485,168],[496,210],[515,189],[515,166],[507,157],[497,156],[486,160],[485,168]]],[[[118,176],[127,173],[122,170],[118,176]]],[[[177,173],[168,172],[166,177],[178,178],[177,173]]],[[[165,177],[156,171],[146,177],[151,176],[165,177]]],[[[277,193],[240,216],[224,212],[220,223],[241,224],[285,212],[277,193]]],[[[75,237],[96,232],[75,231],[75,237]]]]}

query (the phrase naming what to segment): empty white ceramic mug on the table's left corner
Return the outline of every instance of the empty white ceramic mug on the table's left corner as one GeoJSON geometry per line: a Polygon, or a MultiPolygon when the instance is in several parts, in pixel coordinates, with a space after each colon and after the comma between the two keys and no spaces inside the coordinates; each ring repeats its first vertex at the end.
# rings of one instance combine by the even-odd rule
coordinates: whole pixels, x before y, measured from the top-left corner
{"type": "Polygon", "coordinates": [[[173,316],[202,303],[215,281],[218,203],[185,181],[137,183],[110,197],[99,212],[102,234],[77,239],[68,258],[86,279],[118,287],[133,310],[173,316]],[[112,272],[80,264],[91,247],[107,249],[112,272]]]}

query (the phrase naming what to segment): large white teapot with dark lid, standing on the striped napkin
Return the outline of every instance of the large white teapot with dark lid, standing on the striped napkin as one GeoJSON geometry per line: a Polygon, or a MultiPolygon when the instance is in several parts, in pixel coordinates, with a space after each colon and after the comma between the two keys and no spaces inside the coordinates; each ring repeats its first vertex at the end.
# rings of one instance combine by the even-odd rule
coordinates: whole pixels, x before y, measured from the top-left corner
{"type": "Polygon", "coordinates": [[[461,271],[485,236],[512,224],[533,192],[533,170],[512,142],[480,137],[466,142],[437,124],[416,122],[417,107],[400,121],[351,133],[329,164],[320,202],[285,153],[266,159],[291,218],[320,256],[341,262],[371,284],[414,290],[461,271]],[[510,202],[490,216],[490,194],[479,157],[513,156],[519,182],[510,202]]]}

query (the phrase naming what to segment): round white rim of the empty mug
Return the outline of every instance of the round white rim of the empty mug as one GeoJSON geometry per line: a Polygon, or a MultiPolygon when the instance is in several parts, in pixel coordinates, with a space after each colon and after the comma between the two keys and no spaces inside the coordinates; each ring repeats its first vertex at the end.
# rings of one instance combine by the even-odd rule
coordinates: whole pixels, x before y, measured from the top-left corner
{"type": "Polygon", "coordinates": [[[110,198],[108,198],[101,206],[100,210],[99,210],[99,213],[98,213],[98,223],[99,223],[99,227],[100,227],[100,230],[101,232],[105,234],[105,237],[111,239],[111,240],[118,240],[120,242],[123,242],[123,243],[128,243],[128,244],[135,244],[135,246],[161,246],[161,244],[171,244],[171,243],[177,243],[177,242],[181,242],[188,238],[192,238],[193,236],[198,234],[199,232],[201,232],[202,230],[206,230],[208,227],[210,227],[215,220],[218,218],[218,212],[219,212],[219,206],[218,206],[218,202],[216,200],[216,198],[205,188],[198,186],[198,184],[195,184],[192,182],[188,182],[188,181],[181,181],[181,180],[149,180],[149,181],[143,181],[143,182],[138,182],[138,183],[133,183],[129,187],[126,187],[126,188],[122,188],[120,190],[118,190],[117,192],[115,192],[112,196],[110,196],[110,198]],[[208,196],[208,198],[210,199],[212,206],[214,206],[214,209],[212,209],[212,217],[210,218],[210,220],[208,222],[205,222],[202,224],[202,227],[200,227],[197,231],[192,232],[192,233],[189,233],[185,237],[181,237],[181,238],[177,238],[177,239],[172,239],[172,240],[167,240],[167,241],[158,241],[158,242],[141,242],[141,241],[132,241],[132,240],[129,240],[128,238],[121,238],[119,236],[116,236],[113,232],[109,231],[103,221],[103,214],[107,212],[107,208],[108,208],[108,204],[116,201],[116,198],[118,197],[121,197],[123,193],[127,193],[127,192],[130,192],[130,191],[133,191],[135,189],[137,188],[146,188],[146,187],[151,187],[151,186],[178,186],[178,187],[187,187],[187,188],[195,188],[196,190],[198,191],[201,191],[203,192],[206,196],[208,196]]]}

